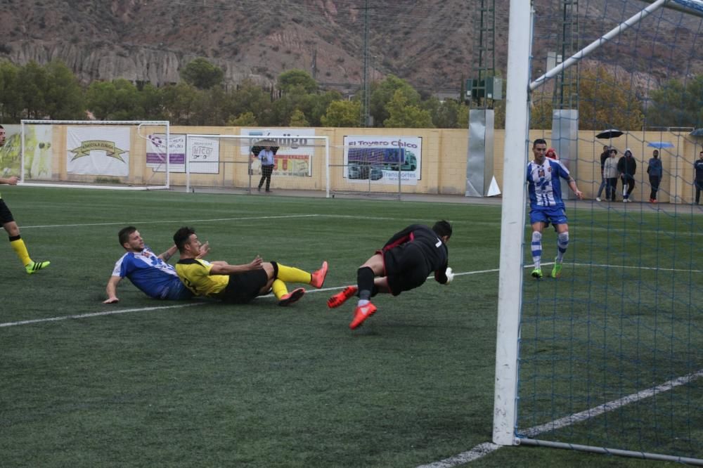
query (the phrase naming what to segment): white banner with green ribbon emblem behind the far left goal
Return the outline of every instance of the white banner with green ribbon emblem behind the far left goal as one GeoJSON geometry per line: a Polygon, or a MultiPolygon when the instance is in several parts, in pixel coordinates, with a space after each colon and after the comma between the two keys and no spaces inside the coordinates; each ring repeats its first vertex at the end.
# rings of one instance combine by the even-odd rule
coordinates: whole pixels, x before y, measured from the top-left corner
{"type": "Polygon", "coordinates": [[[129,176],[129,133],[129,127],[68,127],[66,171],[93,176],[129,176]]]}

